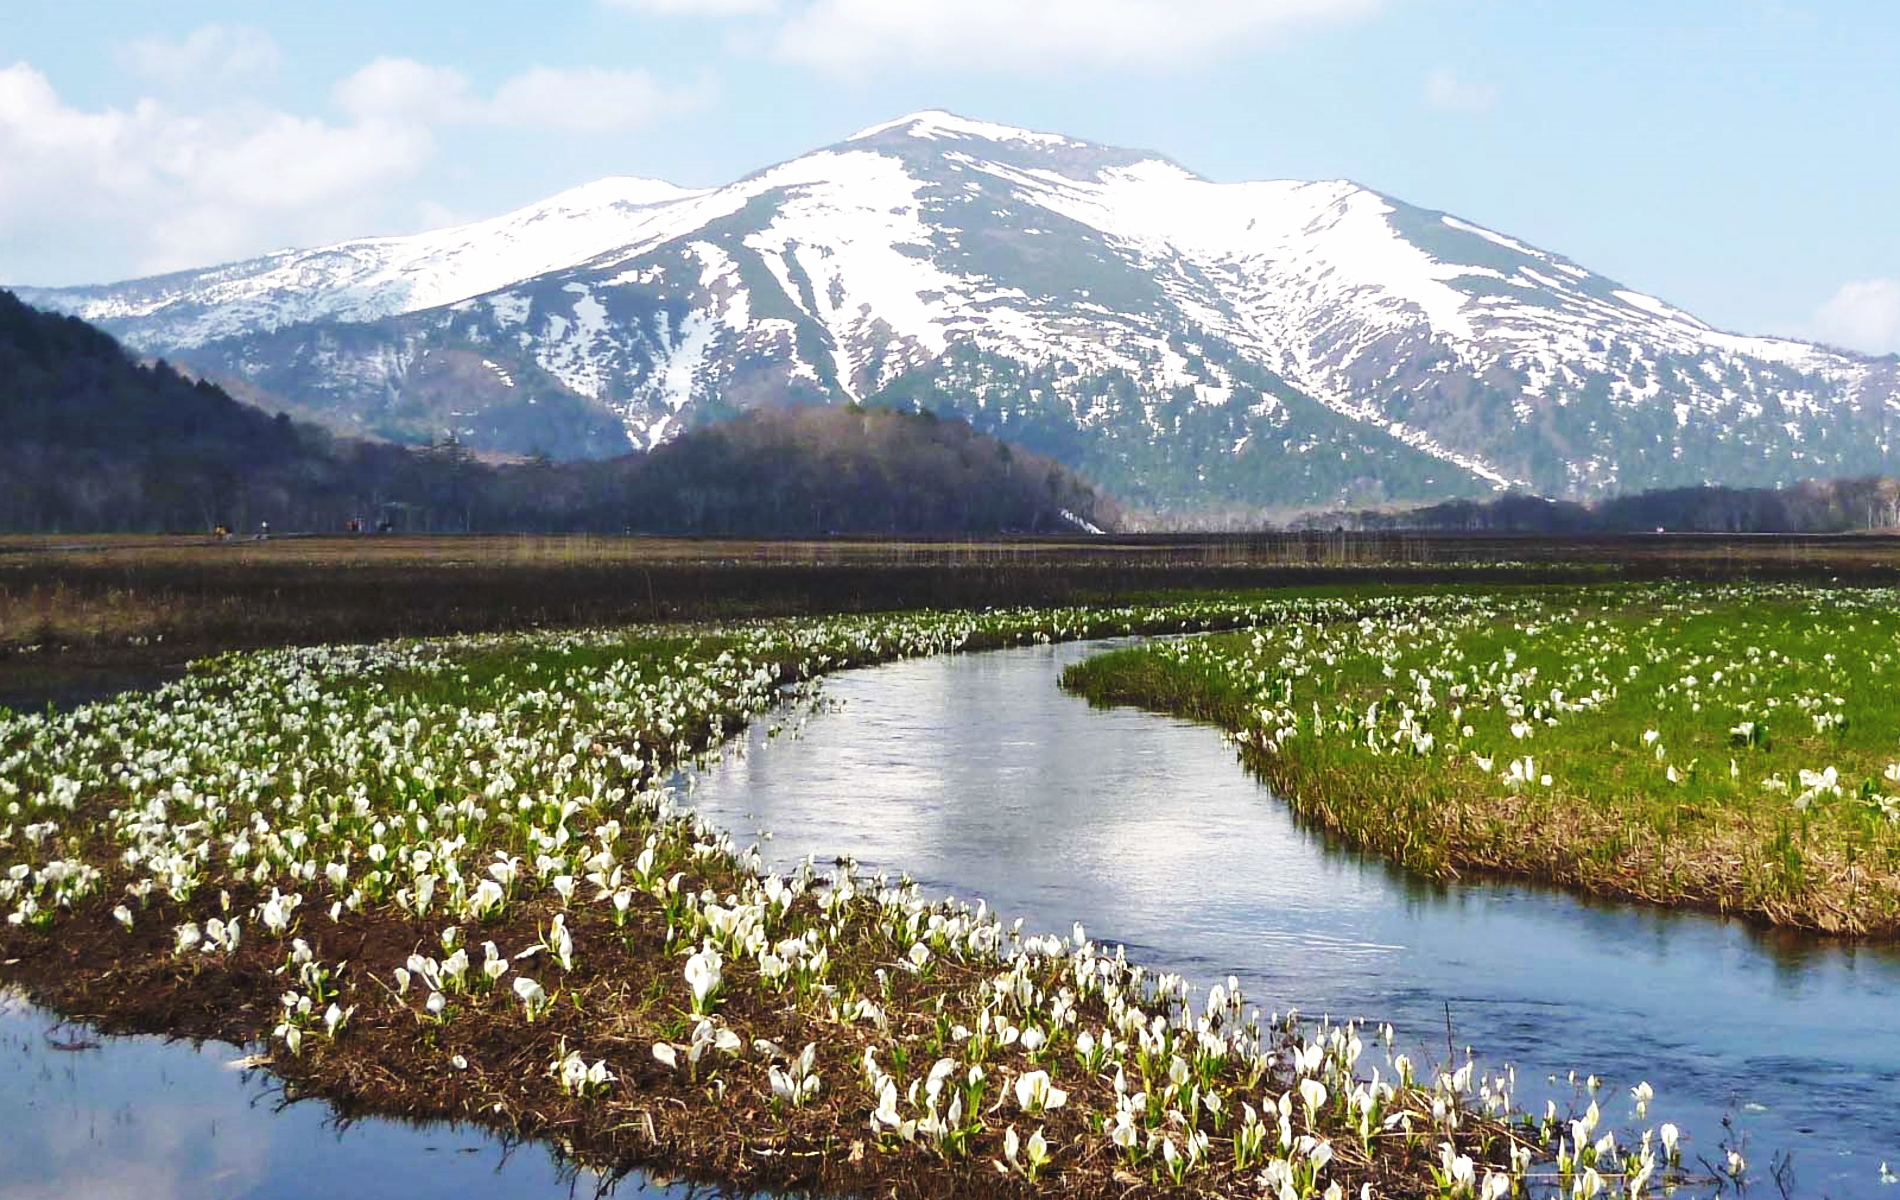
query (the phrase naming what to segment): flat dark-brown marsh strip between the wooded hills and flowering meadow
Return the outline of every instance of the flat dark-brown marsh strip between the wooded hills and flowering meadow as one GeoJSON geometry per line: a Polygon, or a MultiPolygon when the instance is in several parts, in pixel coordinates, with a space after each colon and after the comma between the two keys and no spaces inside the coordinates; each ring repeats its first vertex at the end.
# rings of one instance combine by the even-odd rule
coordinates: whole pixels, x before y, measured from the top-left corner
{"type": "Polygon", "coordinates": [[[1894,535],[1250,534],[990,541],[0,537],[0,687],[63,665],[654,619],[1332,585],[1900,581],[1894,535]]]}

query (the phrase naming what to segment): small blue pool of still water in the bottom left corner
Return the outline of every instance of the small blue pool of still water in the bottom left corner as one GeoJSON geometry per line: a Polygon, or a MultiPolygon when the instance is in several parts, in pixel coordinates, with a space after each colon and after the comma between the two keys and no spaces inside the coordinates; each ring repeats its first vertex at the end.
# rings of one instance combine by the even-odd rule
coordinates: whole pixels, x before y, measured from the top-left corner
{"type": "MultiPolygon", "coordinates": [[[[365,1120],[336,1128],[321,1103],[277,1113],[238,1050],[91,1039],[0,993],[0,1200],[338,1200],[355,1196],[591,1196],[545,1149],[505,1153],[481,1130],[365,1120]]],[[[676,1196],[625,1181],[616,1196],[676,1196]]]]}

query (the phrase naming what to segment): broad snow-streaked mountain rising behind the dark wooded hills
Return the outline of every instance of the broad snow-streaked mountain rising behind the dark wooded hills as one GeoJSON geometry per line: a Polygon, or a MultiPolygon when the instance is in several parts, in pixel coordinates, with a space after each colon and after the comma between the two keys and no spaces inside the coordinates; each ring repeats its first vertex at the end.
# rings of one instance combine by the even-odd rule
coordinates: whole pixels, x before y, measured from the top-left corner
{"type": "Polygon", "coordinates": [[[944,112],[726,188],[23,296],[386,433],[606,454],[922,404],[1163,507],[1761,484],[1881,469],[1900,425],[1892,361],[1444,213],[944,112]]]}

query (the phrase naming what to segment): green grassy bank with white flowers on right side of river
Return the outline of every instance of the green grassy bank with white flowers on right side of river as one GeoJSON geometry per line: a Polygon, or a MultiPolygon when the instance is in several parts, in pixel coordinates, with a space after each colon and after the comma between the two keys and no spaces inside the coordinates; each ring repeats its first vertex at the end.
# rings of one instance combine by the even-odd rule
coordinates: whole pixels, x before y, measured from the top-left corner
{"type": "Polygon", "coordinates": [[[1431,875],[1894,936],[1894,602],[1796,587],[1440,594],[1119,651],[1066,684],[1235,731],[1298,811],[1431,875]]]}

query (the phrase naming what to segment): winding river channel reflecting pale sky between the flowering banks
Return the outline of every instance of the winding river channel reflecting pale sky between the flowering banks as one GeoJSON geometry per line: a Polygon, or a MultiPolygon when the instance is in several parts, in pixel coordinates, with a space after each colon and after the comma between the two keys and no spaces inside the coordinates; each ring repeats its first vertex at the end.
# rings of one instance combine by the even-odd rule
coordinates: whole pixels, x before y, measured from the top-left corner
{"type": "MultiPolygon", "coordinates": [[[[1712,1153],[1792,1149],[1801,1192],[1883,1196],[1900,1164],[1900,953],[1545,889],[1433,885],[1326,853],[1210,729],[1091,710],[1056,687],[1083,646],[935,657],[826,682],[796,739],[756,727],[694,801],[781,864],[855,854],[1032,930],[1127,942],[1264,1008],[1391,1020],[1548,1073],[1647,1078],[1655,1120],[1712,1153]]],[[[1541,1101],[1539,1101],[1541,1103],[1541,1101]]]]}

